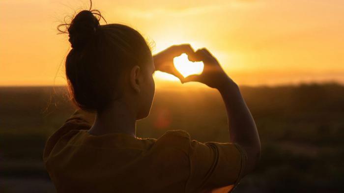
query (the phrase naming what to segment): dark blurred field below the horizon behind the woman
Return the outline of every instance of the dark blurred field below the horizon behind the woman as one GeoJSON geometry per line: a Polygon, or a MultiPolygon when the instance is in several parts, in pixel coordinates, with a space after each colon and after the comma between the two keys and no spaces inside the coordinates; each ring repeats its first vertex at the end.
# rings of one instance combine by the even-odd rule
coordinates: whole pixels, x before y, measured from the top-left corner
{"type": "MultiPolygon", "coordinates": [[[[344,192],[344,86],[241,87],[256,120],[262,157],[236,193],[344,192]]],[[[54,192],[42,163],[47,137],[74,111],[64,87],[0,87],[0,192],[54,192]]],[[[182,129],[227,142],[226,109],[215,89],[157,89],[137,136],[182,129]]]]}

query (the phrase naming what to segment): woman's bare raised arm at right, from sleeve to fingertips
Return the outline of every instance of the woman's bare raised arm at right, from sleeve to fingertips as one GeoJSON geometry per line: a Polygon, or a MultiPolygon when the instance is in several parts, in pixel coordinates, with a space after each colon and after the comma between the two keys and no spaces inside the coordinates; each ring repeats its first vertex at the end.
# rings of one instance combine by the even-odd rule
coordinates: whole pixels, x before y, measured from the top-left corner
{"type": "MultiPolygon", "coordinates": [[[[189,56],[190,57],[190,56],[189,56]]],[[[240,145],[247,154],[244,175],[252,171],[260,158],[260,140],[255,121],[248,109],[239,87],[222,69],[217,59],[206,49],[198,50],[192,60],[203,61],[201,75],[191,75],[183,82],[200,82],[221,93],[229,121],[229,140],[240,145]]]]}

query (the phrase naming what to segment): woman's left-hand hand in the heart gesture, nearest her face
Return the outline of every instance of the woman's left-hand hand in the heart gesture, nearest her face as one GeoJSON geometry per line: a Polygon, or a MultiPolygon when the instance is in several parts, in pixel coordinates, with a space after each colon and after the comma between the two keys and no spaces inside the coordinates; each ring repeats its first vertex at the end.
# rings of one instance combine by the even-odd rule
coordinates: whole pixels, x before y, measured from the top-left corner
{"type": "Polygon", "coordinates": [[[195,61],[195,51],[190,44],[173,45],[153,56],[155,69],[172,74],[183,83],[183,75],[173,65],[173,58],[183,53],[188,55],[190,61],[195,61]]]}

